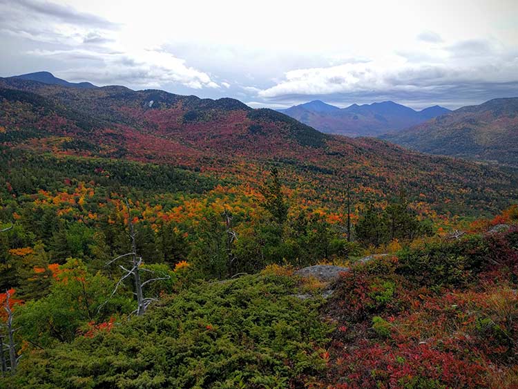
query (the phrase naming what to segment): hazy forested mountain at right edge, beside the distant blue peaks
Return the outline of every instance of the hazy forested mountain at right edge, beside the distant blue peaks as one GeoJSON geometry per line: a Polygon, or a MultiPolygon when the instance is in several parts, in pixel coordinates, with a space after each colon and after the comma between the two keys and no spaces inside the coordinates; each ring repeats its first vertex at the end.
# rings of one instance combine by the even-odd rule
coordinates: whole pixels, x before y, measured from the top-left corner
{"type": "Polygon", "coordinates": [[[518,167],[518,97],[459,108],[383,139],[424,153],[518,167]]]}

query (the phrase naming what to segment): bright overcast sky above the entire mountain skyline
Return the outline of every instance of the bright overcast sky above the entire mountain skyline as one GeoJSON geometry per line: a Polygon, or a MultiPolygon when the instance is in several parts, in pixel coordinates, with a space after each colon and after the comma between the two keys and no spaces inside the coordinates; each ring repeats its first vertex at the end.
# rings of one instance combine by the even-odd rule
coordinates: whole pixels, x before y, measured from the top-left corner
{"type": "Polygon", "coordinates": [[[518,96],[517,0],[0,0],[0,77],[285,108],[518,96]]]}

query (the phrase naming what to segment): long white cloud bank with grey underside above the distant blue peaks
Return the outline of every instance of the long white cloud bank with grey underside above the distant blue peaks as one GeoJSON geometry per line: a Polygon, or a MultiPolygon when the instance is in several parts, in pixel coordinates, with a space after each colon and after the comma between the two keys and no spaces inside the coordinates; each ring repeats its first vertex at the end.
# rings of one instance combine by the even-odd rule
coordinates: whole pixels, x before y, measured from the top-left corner
{"type": "MultiPolygon", "coordinates": [[[[461,44],[461,48],[479,46],[461,44]]],[[[466,53],[468,50],[466,50],[466,53]]],[[[472,50],[478,53],[478,50],[472,50]]],[[[291,70],[280,82],[258,92],[266,101],[326,97],[334,101],[395,99],[397,101],[448,102],[452,98],[484,99],[516,94],[518,58],[441,61],[416,64],[401,57],[342,64],[325,68],[291,70]],[[514,89],[513,89],[514,88],[514,89]]]]}

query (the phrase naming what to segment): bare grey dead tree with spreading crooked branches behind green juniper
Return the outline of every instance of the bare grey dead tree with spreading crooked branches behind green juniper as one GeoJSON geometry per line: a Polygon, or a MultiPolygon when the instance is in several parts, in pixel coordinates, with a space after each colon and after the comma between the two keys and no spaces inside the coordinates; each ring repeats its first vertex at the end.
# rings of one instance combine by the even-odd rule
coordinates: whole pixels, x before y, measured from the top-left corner
{"type": "MultiPolygon", "coordinates": [[[[119,256],[117,256],[117,258],[113,258],[111,261],[106,263],[106,265],[111,265],[111,264],[117,262],[118,260],[122,260],[122,258],[130,258],[128,261],[129,265],[126,265],[127,267],[123,266],[123,265],[119,265],[119,267],[125,273],[124,273],[124,276],[119,278],[119,281],[115,285],[115,289],[113,290],[110,298],[112,298],[115,295],[115,293],[117,292],[117,289],[124,282],[124,280],[126,280],[126,278],[133,277],[133,283],[135,284],[135,292],[133,292],[133,294],[135,294],[135,297],[137,298],[137,309],[135,311],[131,312],[131,314],[137,314],[137,316],[142,316],[144,314],[144,312],[146,312],[146,309],[149,306],[149,304],[151,304],[153,301],[157,301],[157,298],[144,297],[144,287],[146,285],[148,285],[149,283],[152,283],[153,281],[168,280],[169,278],[171,278],[171,276],[169,276],[169,274],[164,274],[164,276],[162,276],[162,277],[150,278],[150,279],[142,282],[142,272],[150,272],[153,274],[155,274],[155,272],[153,272],[153,270],[145,269],[144,267],[142,267],[142,264],[144,263],[144,261],[142,260],[142,257],[138,256],[138,254],[137,254],[137,244],[135,243],[135,237],[137,236],[137,232],[135,231],[135,228],[133,227],[133,221],[131,220],[131,209],[130,209],[128,200],[126,200],[126,207],[128,209],[128,228],[129,228],[128,235],[129,235],[129,238],[131,241],[131,252],[119,255],[119,256]]],[[[106,303],[108,303],[110,298],[108,298],[108,300],[105,301],[99,307],[97,312],[99,312],[99,310],[106,303]]]]}

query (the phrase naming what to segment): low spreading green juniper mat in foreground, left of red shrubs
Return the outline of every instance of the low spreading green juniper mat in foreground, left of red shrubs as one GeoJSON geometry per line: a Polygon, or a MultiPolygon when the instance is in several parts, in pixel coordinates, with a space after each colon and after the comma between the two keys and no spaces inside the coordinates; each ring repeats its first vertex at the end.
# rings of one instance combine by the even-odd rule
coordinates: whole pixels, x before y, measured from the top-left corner
{"type": "Polygon", "coordinates": [[[285,388],[325,368],[329,326],[293,278],[198,285],[92,339],[35,351],[11,387],[285,388]]]}

